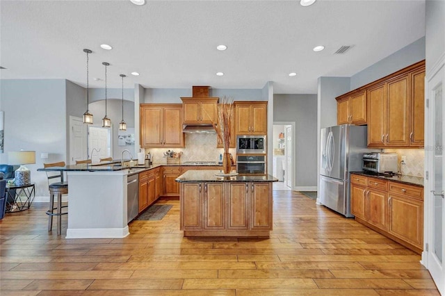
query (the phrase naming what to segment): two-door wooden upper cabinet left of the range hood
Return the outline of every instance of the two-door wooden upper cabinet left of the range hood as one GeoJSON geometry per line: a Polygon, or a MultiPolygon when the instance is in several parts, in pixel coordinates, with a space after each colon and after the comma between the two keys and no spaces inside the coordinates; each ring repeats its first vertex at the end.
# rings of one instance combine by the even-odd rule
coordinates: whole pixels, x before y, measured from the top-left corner
{"type": "Polygon", "coordinates": [[[140,145],[184,147],[181,104],[140,104],[140,145]]]}

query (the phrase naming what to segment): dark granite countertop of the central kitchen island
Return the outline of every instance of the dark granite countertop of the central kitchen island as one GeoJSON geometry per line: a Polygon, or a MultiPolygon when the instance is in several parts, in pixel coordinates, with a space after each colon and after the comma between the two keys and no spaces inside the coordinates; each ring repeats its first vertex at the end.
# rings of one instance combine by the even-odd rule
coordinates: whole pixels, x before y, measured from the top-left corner
{"type": "Polygon", "coordinates": [[[184,182],[277,182],[278,179],[270,174],[251,176],[238,174],[237,176],[216,176],[218,170],[188,170],[175,181],[184,182]]]}

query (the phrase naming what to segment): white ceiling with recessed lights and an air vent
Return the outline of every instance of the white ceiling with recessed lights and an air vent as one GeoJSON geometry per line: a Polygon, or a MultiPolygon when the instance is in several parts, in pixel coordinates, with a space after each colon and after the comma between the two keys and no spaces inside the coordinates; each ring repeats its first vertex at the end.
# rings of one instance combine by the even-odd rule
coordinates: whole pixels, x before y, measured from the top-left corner
{"type": "Polygon", "coordinates": [[[119,74],[127,74],[125,88],[258,89],[273,81],[275,93],[316,93],[319,76],[352,76],[425,35],[424,1],[1,0],[0,10],[1,79],[86,86],[88,48],[91,88],[104,88],[93,79],[104,79],[106,61],[109,88],[121,88],[119,74]],[[318,44],[325,50],[312,51],[318,44]],[[341,45],[354,47],[333,54],[341,45]]]}

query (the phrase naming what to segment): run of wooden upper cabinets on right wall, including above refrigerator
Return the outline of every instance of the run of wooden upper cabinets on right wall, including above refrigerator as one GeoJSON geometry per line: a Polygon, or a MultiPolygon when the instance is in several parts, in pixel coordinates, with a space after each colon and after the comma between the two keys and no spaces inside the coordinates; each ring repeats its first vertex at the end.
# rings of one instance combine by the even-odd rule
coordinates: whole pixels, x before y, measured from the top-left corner
{"type": "Polygon", "coordinates": [[[425,60],[337,97],[338,124],[368,124],[368,147],[422,147],[425,60]]]}

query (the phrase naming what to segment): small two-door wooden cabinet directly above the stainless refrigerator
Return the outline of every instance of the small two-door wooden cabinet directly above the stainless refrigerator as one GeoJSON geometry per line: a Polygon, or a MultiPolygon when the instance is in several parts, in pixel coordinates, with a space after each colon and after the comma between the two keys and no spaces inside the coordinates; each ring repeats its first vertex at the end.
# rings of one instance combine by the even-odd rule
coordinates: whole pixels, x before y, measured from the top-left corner
{"type": "Polygon", "coordinates": [[[366,124],[366,91],[337,97],[337,124],[366,124]]]}

